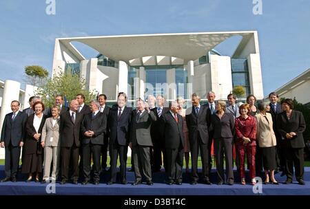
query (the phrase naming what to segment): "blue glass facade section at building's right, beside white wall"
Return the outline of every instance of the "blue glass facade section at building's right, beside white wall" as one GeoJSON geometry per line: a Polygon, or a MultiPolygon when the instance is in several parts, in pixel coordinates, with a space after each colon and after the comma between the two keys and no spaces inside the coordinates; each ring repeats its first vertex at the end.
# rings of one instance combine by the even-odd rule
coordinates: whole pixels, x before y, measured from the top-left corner
{"type": "Polygon", "coordinates": [[[233,87],[245,87],[245,95],[251,94],[247,59],[231,59],[231,76],[233,87]]]}

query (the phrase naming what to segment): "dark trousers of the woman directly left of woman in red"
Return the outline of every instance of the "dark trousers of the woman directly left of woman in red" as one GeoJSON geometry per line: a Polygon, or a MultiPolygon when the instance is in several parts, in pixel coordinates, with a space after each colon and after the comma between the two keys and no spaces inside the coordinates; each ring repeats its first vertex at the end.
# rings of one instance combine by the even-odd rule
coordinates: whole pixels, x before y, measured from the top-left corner
{"type": "Polygon", "coordinates": [[[227,181],[234,181],[232,145],[232,138],[214,139],[214,153],[216,159],[216,173],[218,177],[218,182],[225,182],[224,154],[226,164],[226,179],[227,181]]]}

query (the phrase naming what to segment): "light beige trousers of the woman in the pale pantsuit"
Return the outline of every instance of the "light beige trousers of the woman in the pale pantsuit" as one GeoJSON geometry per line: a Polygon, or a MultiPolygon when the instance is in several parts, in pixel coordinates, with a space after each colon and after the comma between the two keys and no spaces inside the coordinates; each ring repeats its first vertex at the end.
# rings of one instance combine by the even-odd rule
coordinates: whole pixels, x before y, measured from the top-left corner
{"type": "Polygon", "coordinates": [[[46,181],[49,180],[50,177],[50,165],[53,161],[52,168],[52,180],[56,180],[58,178],[59,166],[60,166],[60,151],[61,148],[59,146],[45,146],[44,147],[44,175],[43,179],[46,181]]]}

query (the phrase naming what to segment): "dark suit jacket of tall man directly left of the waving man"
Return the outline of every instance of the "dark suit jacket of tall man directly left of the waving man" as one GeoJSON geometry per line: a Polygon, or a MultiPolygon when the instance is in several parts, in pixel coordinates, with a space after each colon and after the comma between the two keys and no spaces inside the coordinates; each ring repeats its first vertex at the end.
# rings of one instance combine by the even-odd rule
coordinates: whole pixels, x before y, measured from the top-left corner
{"type": "Polygon", "coordinates": [[[125,107],[121,118],[118,120],[118,107],[110,109],[108,123],[110,131],[110,144],[118,142],[119,145],[126,146],[130,137],[130,122],[132,118],[132,108],[125,107]]]}

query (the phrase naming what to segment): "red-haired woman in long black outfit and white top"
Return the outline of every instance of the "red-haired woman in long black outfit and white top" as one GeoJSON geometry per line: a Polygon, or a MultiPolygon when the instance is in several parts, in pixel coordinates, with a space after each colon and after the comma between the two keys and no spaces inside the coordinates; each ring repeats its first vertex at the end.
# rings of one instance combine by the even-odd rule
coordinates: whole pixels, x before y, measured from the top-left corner
{"type": "Polygon", "coordinates": [[[27,182],[32,180],[35,175],[35,181],[39,182],[39,175],[42,173],[43,147],[41,146],[41,133],[45,123],[46,116],[43,114],[44,104],[35,102],[33,104],[34,114],[28,117],[25,124],[26,137],[23,148],[23,165],[21,173],[28,173],[27,182]]]}

